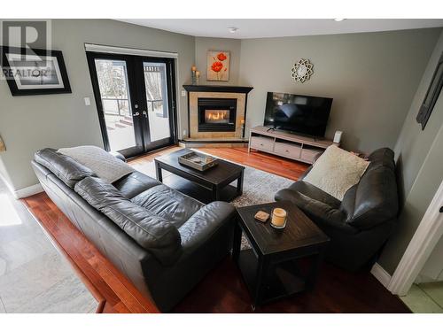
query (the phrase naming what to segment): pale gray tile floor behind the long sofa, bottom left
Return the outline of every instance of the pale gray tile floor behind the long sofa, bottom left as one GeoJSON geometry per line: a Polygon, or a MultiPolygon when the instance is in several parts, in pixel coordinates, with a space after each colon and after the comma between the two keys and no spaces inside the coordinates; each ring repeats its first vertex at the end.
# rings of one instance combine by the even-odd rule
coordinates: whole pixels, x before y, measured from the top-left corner
{"type": "Polygon", "coordinates": [[[97,301],[0,180],[0,313],[94,313],[97,301]]]}

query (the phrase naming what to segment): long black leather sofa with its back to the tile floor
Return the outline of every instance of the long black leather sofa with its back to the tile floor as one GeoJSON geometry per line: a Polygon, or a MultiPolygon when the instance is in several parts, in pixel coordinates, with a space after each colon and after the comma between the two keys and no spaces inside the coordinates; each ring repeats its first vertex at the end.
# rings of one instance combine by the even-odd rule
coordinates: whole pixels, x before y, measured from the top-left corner
{"type": "Polygon", "coordinates": [[[230,251],[228,203],[203,205],[137,171],[108,184],[52,149],[37,151],[32,166],[74,226],[162,312],[230,251]]]}

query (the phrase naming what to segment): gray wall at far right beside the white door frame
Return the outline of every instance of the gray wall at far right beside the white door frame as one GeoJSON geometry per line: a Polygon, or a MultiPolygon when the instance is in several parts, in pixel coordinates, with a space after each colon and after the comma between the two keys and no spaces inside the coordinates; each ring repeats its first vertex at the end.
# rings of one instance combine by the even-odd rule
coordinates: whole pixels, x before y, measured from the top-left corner
{"type": "MultiPolygon", "coordinates": [[[[443,91],[440,93],[424,131],[416,123],[416,114],[424,100],[442,52],[443,33],[426,66],[395,145],[404,208],[400,213],[399,228],[378,260],[378,263],[389,274],[394,272],[400,262],[403,252],[408,247],[424,212],[443,180],[443,91]]],[[[439,247],[441,247],[441,241],[439,247]]]]}

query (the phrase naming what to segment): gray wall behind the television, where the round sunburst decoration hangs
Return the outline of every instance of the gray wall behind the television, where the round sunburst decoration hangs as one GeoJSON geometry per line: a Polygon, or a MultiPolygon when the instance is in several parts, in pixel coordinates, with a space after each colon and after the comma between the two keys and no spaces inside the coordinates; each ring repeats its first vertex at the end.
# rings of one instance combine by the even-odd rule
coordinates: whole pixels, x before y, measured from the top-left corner
{"type": "Polygon", "coordinates": [[[326,136],[343,130],[343,146],[393,148],[439,29],[243,40],[240,84],[253,86],[246,128],[262,124],[268,91],[333,97],[326,136]],[[296,83],[291,66],[314,64],[296,83]]]}

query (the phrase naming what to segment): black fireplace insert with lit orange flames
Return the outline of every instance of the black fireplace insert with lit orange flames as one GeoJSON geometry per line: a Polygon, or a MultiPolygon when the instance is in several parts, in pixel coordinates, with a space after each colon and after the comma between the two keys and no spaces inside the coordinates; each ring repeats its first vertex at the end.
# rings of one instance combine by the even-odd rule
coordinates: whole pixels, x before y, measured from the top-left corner
{"type": "Polygon", "coordinates": [[[236,131],[237,99],[198,98],[198,131],[236,131]]]}

